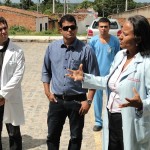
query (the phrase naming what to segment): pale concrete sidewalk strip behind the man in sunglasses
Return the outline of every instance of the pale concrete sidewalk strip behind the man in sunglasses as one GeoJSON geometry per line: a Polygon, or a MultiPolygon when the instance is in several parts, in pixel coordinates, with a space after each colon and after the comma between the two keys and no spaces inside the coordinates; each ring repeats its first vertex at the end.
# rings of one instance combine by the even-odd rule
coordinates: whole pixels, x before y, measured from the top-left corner
{"type": "MultiPolygon", "coordinates": [[[[14,42],[51,42],[62,39],[62,36],[9,36],[14,42]]],[[[86,41],[86,36],[77,36],[79,40],[86,41]]]]}

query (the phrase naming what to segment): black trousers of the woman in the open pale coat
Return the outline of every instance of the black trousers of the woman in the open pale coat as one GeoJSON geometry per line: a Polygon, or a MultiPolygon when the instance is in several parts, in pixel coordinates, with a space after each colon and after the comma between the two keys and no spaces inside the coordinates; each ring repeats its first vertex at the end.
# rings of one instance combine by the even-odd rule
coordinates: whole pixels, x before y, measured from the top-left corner
{"type": "Polygon", "coordinates": [[[109,117],[109,147],[108,150],[123,150],[123,132],[121,113],[110,113],[109,117]]]}

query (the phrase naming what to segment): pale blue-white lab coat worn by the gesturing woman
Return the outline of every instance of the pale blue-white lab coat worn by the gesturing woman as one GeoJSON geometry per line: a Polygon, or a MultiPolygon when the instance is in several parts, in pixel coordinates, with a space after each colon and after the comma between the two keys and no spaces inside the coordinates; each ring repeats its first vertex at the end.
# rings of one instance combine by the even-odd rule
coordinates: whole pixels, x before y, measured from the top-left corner
{"type": "MultiPolygon", "coordinates": [[[[126,50],[121,50],[115,56],[110,68],[110,74],[106,77],[95,77],[85,74],[84,88],[107,89],[107,97],[110,89],[108,80],[123,60],[126,50]]],[[[127,102],[125,98],[133,97],[133,87],[138,91],[143,102],[143,115],[138,117],[133,107],[121,109],[124,150],[150,150],[150,57],[142,57],[137,53],[136,58],[124,72],[117,91],[122,103],[127,102]]],[[[108,150],[109,129],[107,111],[103,121],[103,150],[108,150]]]]}

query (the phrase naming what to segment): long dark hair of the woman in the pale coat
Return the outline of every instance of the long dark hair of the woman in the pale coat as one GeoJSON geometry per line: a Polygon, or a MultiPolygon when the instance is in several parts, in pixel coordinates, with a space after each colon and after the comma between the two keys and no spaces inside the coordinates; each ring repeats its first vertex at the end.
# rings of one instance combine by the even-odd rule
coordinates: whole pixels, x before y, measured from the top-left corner
{"type": "Polygon", "coordinates": [[[128,18],[133,25],[135,40],[138,45],[138,52],[142,56],[150,55],[150,24],[142,15],[135,15],[128,18]]]}

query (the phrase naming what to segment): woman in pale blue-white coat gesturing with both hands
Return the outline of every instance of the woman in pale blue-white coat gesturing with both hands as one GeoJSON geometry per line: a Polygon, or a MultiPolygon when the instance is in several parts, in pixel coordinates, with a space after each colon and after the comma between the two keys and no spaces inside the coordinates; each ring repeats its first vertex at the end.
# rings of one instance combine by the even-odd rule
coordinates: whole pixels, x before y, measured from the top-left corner
{"type": "Polygon", "coordinates": [[[129,17],[119,37],[123,50],[110,73],[96,77],[79,70],[67,76],[83,88],[107,89],[103,150],[150,150],[150,24],[140,15],[129,17]]]}

